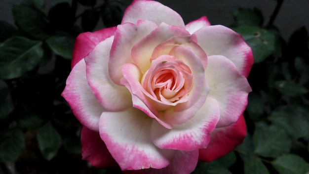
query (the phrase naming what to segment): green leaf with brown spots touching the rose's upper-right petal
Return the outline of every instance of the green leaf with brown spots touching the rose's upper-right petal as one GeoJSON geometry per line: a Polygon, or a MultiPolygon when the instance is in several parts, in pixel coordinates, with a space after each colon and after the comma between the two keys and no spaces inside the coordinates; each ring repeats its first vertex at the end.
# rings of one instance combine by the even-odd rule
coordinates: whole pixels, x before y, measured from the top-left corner
{"type": "Polygon", "coordinates": [[[264,61],[274,51],[275,37],[269,31],[248,26],[240,26],[233,30],[242,35],[252,48],[254,63],[264,61]]]}

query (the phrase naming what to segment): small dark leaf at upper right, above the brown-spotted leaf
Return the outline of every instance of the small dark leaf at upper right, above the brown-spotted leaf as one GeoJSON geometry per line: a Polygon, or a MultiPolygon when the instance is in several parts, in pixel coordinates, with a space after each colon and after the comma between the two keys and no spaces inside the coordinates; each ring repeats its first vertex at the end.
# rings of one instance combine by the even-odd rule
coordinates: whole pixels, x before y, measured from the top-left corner
{"type": "Polygon", "coordinates": [[[260,27],[263,25],[263,15],[260,10],[240,8],[233,12],[233,17],[238,25],[260,27]]]}

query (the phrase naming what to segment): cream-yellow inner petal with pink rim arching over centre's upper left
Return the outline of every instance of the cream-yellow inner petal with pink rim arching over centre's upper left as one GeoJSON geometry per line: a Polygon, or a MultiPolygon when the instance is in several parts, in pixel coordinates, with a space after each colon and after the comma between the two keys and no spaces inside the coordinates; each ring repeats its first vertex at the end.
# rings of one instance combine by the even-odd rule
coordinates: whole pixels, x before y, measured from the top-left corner
{"type": "Polygon", "coordinates": [[[134,63],[141,68],[141,71],[146,72],[151,64],[150,57],[157,45],[173,37],[189,35],[190,33],[183,28],[161,23],[149,35],[133,46],[131,57],[134,63]]]}

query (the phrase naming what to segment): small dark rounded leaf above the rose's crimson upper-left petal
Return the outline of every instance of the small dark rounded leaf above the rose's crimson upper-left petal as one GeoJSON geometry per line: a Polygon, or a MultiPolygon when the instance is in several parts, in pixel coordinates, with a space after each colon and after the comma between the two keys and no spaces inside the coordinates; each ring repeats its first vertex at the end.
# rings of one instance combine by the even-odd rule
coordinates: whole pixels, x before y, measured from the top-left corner
{"type": "Polygon", "coordinates": [[[84,31],[92,31],[98,24],[100,12],[96,9],[85,10],[81,15],[81,27],[84,31]]]}

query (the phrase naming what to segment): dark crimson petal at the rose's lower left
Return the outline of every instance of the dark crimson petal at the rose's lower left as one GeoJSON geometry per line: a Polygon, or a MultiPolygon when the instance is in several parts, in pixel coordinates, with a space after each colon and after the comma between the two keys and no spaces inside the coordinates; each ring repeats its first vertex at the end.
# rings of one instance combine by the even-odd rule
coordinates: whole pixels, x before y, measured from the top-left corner
{"type": "Polygon", "coordinates": [[[82,145],[82,159],[89,161],[91,166],[96,168],[118,166],[106,148],[99,132],[83,127],[80,134],[80,141],[82,145]]]}

